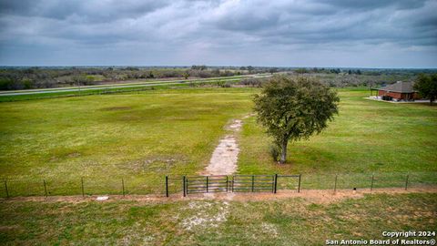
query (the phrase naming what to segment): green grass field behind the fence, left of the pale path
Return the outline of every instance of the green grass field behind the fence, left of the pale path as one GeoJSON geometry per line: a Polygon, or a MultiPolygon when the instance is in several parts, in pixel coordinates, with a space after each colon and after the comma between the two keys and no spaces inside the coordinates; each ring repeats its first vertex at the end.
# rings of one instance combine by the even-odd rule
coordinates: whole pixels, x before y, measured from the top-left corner
{"type": "MultiPolygon", "coordinates": [[[[193,175],[224,126],[250,110],[250,89],[181,89],[0,104],[0,176],[9,191],[162,192],[165,175],[193,175]],[[20,181],[17,181],[20,180],[20,181]],[[23,185],[26,183],[27,185],[23,185]],[[28,185],[30,184],[30,185],[28,185]]],[[[2,184],[2,196],[4,185],[2,184]]]]}

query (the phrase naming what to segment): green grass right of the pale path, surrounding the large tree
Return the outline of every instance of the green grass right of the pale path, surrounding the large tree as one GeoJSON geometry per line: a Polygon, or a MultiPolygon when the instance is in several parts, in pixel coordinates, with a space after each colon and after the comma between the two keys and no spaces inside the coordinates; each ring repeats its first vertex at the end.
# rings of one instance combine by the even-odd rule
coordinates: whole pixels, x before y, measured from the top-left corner
{"type": "Polygon", "coordinates": [[[340,89],[340,114],[320,135],[289,145],[289,164],[269,156],[269,138],[249,118],[240,137],[239,172],[301,173],[312,189],[437,182],[437,107],[371,101],[366,90],[340,89]]]}

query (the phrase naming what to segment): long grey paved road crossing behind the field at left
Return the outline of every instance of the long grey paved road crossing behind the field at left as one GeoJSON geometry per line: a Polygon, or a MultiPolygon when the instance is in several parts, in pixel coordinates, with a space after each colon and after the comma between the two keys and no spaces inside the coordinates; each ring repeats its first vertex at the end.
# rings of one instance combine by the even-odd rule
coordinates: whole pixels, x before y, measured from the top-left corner
{"type": "MultiPolygon", "coordinates": [[[[252,75],[248,77],[269,77],[269,75],[252,75]]],[[[59,92],[73,92],[73,91],[87,91],[87,90],[98,90],[98,89],[117,89],[117,88],[129,88],[129,87],[156,87],[156,86],[169,86],[169,85],[180,85],[180,84],[198,84],[198,83],[217,83],[219,81],[239,81],[243,78],[248,77],[214,77],[206,79],[195,79],[195,80],[167,80],[167,81],[156,81],[156,82],[144,82],[132,83],[132,84],[116,84],[110,86],[89,86],[89,87],[66,87],[66,88],[51,88],[51,89],[33,89],[33,90],[19,90],[19,91],[1,91],[0,97],[5,96],[20,96],[20,95],[34,95],[34,94],[46,94],[46,93],[59,93],[59,92]]]]}

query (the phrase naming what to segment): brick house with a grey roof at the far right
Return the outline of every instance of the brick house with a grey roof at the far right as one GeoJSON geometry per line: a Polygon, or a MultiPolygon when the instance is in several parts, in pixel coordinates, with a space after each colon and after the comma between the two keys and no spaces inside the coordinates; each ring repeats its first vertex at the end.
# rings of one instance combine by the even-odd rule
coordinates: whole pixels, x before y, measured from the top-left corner
{"type": "Polygon", "coordinates": [[[416,100],[421,99],[417,91],[412,88],[412,82],[398,81],[394,84],[378,89],[378,97],[389,96],[393,100],[416,100]]]}

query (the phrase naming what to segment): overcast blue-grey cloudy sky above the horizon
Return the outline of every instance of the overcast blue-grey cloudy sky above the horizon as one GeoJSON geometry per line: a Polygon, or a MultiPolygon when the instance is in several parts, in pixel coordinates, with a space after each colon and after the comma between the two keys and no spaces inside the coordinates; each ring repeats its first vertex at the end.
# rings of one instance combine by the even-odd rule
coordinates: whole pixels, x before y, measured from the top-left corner
{"type": "Polygon", "coordinates": [[[0,66],[437,67],[437,0],[0,0],[0,66]]]}

